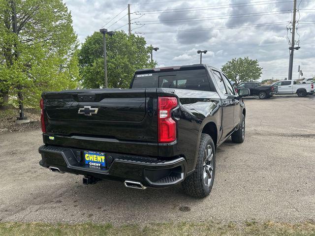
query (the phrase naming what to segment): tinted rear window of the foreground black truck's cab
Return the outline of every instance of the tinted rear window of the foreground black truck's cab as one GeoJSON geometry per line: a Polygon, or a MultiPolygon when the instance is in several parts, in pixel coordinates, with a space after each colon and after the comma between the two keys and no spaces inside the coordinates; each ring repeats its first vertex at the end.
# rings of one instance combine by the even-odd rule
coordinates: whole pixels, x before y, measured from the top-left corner
{"type": "Polygon", "coordinates": [[[136,74],[132,89],[173,88],[213,91],[205,69],[136,74]]]}

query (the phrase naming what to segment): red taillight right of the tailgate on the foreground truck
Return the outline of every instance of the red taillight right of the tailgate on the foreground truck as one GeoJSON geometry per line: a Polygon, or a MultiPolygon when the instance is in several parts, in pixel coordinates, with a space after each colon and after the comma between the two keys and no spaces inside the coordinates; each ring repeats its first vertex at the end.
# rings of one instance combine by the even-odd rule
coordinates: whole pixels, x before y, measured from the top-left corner
{"type": "Polygon", "coordinates": [[[171,110],[176,106],[176,97],[158,97],[159,143],[171,143],[176,140],[176,122],[171,117],[171,110]]]}

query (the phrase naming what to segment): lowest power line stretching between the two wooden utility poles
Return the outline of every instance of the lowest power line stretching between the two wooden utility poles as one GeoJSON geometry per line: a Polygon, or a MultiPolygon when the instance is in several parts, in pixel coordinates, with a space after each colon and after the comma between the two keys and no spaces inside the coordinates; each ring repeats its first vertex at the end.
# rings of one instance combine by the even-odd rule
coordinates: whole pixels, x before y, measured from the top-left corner
{"type": "Polygon", "coordinates": [[[169,31],[152,31],[152,32],[136,32],[137,34],[156,34],[156,33],[180,33],[180,32],[195,32],[195,31],[211,31],[216,29],[242,29],[242,28],[252,28],[252,27],[263,27],[263,26],[277,26],[284,25],[286,21],[282,22],[271,22],[264,24],[254,24],[246,26],[231,26],[231,27],[217,27],[217,28],[204,28],[204,29],[182,29],[182,30],[169,30],[169,31]]]}

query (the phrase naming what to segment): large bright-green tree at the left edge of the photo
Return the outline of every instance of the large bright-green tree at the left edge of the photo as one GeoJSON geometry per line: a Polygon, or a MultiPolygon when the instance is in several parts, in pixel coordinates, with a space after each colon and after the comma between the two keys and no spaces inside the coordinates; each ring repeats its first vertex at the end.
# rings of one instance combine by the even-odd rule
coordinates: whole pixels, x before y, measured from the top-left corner
{"type": "Polygon", "coordinates": [[[75,88],[77,46],[71,14],[62,0],[0,0],[0,108],[5,108],[8,95],[18,102],[18,88],[25,105],[35,107],[44,90],[75,88]]]}

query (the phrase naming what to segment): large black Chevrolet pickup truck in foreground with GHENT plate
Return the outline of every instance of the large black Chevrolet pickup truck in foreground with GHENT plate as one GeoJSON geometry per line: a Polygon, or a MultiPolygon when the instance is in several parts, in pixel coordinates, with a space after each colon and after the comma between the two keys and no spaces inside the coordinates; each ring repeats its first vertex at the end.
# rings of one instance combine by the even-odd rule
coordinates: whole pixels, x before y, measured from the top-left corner
{"type": "Polygon", "coordinates": [[[39,164],[52,172],[84,175],[126,187],[168,187],[182,182],[207,196],[216,148],[245,137],[245,104],[226,76],[204,64],[141,69],[130,89],[43,92],[39,164]]]}

